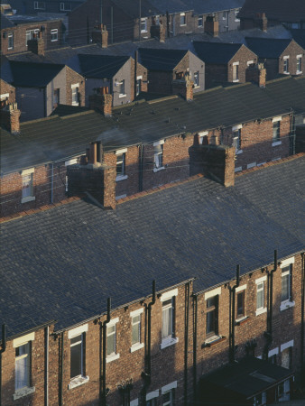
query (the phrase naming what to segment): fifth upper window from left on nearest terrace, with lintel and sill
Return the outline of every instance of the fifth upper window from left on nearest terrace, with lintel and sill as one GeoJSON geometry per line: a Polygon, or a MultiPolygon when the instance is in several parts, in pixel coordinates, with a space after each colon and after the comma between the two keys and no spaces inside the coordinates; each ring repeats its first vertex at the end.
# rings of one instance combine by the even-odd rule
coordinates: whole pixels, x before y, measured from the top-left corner
{"type": "Polygon", "coordinates": [[[161,348],[171,346],[178,342],[175,337],[175,297],[178,289],[162,294],[162,345],[161,348]]]}

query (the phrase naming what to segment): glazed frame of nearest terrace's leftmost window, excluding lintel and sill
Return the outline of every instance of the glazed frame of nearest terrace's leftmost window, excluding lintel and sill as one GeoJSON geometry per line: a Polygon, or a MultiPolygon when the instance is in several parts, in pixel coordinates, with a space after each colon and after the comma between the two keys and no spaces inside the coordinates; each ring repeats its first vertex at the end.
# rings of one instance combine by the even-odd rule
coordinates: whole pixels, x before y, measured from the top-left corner
{"type": "Polygon", "coordinates": [[[31,342],[15,348],[15,380],[14,389],[30,386],[31,375],[31,342]]]}

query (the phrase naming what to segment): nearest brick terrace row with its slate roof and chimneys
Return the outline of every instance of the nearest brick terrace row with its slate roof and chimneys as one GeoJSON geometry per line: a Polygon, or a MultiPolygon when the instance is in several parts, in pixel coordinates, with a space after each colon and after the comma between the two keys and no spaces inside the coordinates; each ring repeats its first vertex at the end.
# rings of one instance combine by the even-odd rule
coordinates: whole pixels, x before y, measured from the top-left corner
{"type": "MultiPolygon", "coordinates": [[[[290,398],[304,372],[304,156],[234,181],[234,149],[213,151],[231,187],[198,175],[116,210],[86,195],[5,218],[5,405],[290,398]]],[[[95,171],[111,198],[115,169],[95,171]]]]}

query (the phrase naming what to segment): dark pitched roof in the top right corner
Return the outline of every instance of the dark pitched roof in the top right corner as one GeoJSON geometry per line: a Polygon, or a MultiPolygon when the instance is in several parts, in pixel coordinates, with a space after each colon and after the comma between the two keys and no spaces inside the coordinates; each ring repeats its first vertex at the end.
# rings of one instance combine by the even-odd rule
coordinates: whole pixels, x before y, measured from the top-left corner
{"type": "Polygon", "coordinates": [[[245,0],[239,15],[241,18],[253,18],[257,13],[265,13],[269,20],[279,22],[298,22],[305,19],[305,2],[291,0],[245,0]]]}

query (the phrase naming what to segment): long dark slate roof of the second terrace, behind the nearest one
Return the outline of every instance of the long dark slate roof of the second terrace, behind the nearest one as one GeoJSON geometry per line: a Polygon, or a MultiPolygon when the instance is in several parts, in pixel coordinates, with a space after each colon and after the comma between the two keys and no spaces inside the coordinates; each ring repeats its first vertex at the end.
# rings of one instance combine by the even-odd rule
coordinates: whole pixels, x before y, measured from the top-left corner
{"type": "Polygon", "coordinates": [[[264,89],[252,84],[213,88],[196,93],[191,103],[177,96],[137,101],[115,107],[112,117],[86,107],[60,106],[49,118],[22,123],[18,136],[3,130],[1,173],[68,159],[84,153],[97,139],[105,151],[116,151],[176,134],[285,115],[291,108],[297,114],[305,111],[303,77],[272,80],[264,89]],[[32,154],[33,149],[41,153],[32,154]]]}

